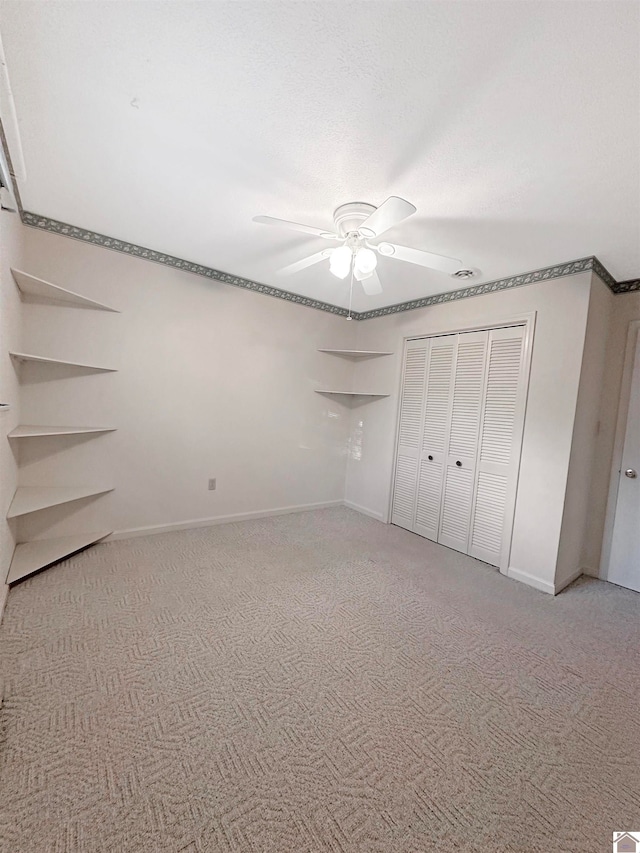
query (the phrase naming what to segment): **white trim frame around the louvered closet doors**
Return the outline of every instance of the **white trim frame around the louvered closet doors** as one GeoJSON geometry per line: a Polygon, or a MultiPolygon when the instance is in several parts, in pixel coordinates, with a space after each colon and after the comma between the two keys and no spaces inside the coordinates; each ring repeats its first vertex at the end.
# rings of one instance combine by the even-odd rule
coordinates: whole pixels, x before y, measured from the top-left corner
{"type": "MultiPolygon", "coordinates": [[[[516,474],[515,474],[515,482],[513,487],[513,502],[510,508],[510,511],[507,515],[507,523],[505,525],[504,531],[504,542],[502,545],[502,554],[500,557],[500,565],[499,571],[501,574],[506,575],[509,570],[509,558],[511,556],[511,541],[513,538],[513,522],[515,519],[515,511],[516,506],[518,504],[518,485],[520,480],[520,461],[522,458],[522,445],[524,441],[524,427],[527,420],[527,405],[529,401],[529,378],[531,375],[531,359],[533,355],[533,341],[535,335],[535,327],[536,327],[536,316],[537,311],[527,311],[522,314],[513,314],[510,317],[506,317],[502,320],[485,320],[484,322],[478,321],[477,323],[473,323],[468,326],[459,326],[457,328],[451,328],[450,326],[446,326],[444,328],[438,328],[437,330],[424,332],[423,334],[413,333],[411,335],[405,335],[402,338],[402,355],[399,359],[400,366],[398,369],[398,376],[396,378],[396,389],[397,389],[397,403],[396,403],[396,425],[395,425],[395,440],[393,443],[393,460],[391,463],[391,482],[389,486],[389,498],[387,501],[387,510],[386,510],[386,518],[385,522],[387,524],[391,523],[391,513],[393,509],[393,491],[395,487],[395,478],[396,478],[396,459],[398,458],[398,444],[400,439],[400,408],[402,405],[402,377],[404,373],[404,362],[405,355],[407,350],[407,342],[421,340],[423,338],[439,338],[444,335],[461,335],[466,332],[484,332],[491,331],[492,329],[504,329],[509,326],[524,326],[524,340],[523,340],[523,350],[522,350],[522,364],[520,366],[520,377],[523,382],[523,395],[524,395],[524,404],[522,407],[522,423],[519,424],[519,439],[517,443],[514,445],[514,451],[517,456],[516,462],[516,474]]],[[[418,535],[418,534],[416,534],[418,535]]],[[[445,546],[443,546],[445,547],[445,546]]],[[[475,557],[472,559],[476,559],[475,557]]]]}

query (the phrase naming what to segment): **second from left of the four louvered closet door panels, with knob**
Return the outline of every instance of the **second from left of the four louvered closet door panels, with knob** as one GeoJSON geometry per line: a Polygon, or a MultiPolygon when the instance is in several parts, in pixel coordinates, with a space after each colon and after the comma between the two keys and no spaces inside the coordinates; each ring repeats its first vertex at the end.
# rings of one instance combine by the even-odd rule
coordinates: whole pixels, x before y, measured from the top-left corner
{"type": "Polygon", "coordinates": [[[431,338],[427,361],[422,444],[418,467],[415,532],[438,541],[445,446],[457,335],[431,338]]]}

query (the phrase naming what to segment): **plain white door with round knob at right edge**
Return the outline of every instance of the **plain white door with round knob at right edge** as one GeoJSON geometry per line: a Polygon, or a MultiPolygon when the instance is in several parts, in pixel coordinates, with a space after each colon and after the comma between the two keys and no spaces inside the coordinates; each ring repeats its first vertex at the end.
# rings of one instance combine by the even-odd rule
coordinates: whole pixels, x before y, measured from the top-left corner
{"type": "Polygon", "coordinates": [[[607,580],[640,592],[640,334],[633,361],[607,580]]]}

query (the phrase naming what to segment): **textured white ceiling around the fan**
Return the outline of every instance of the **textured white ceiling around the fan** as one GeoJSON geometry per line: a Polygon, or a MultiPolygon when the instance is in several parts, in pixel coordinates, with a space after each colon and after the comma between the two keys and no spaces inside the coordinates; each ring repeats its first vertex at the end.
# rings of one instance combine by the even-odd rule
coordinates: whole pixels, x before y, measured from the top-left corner
{"type": "MultiPolygon", "coordinates": [[[[640,274],[637,2],[31,2],[0,6],[25,209],[346,305],[331,226],[400,195],[388,239],[487,281],[596,254],[640,274]]],[[[380,297],[459,286],[381,259],[380,297]]]]}

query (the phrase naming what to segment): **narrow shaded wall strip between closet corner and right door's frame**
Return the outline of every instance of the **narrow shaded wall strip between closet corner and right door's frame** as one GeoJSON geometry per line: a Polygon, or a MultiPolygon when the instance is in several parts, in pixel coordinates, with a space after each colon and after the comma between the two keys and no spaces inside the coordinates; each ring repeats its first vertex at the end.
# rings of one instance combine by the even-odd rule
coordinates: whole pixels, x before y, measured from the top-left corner
{"type": "Polygon", "coordinates": [[[605,580],[607,567],[601,565],[601,546],[609,501],[627,334],[629,324],[633,320],[640,320],[640,292],[615,296],[609,316],[604,367],[605,381],[602,383],[600,396],[599,432],[595,446],[594,471],[589,494],[590,524],[584,542],[585,570],[605,580]]]}

